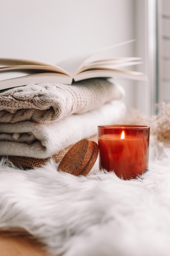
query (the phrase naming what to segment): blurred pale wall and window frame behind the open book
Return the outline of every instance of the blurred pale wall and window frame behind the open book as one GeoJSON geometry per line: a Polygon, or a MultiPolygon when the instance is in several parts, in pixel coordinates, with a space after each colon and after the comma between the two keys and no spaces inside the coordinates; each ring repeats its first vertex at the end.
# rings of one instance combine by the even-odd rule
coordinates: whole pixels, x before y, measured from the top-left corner
{"type": "Polygon", "coordinates": [[[126,90],[126,106],[148,115],[156,102],[170,98],[169,28],[169,0],[0,0],[1,57],[57,64],[135,39],[116,48],[115,56],[142,57],[134,70],[144,72],[148,82],[118,83],[126,90]]]}

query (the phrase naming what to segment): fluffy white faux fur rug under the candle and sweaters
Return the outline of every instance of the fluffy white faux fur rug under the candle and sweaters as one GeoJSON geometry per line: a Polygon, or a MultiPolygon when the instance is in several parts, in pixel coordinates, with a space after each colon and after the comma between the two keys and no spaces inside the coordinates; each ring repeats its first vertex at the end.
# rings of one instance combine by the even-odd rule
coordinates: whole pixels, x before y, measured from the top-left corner
{"type": "Polygon", "coordinates": [[[87,177],[51,162],[21,171],[0,163],[0,229],[24,228],[64,256],[170,255],[170,149],[150,146],[149,171],[87,177]]]}

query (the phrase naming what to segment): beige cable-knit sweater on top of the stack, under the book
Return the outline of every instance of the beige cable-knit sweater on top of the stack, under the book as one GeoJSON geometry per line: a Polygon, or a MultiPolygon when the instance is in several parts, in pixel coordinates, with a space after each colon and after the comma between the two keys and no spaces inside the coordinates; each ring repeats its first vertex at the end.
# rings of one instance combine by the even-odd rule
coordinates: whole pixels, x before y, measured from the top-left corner
{"type": "Polygon", "coordinates": [[[51,123],[122,99],[124,89],[105,79],[64,84],[26,85],[0,93],[0,123],[51,123]]]}

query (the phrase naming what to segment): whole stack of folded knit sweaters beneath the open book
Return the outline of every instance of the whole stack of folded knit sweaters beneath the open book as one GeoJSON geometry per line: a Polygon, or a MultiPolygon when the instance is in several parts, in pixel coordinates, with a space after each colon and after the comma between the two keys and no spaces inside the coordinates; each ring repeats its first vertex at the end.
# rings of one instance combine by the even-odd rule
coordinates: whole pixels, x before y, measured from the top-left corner
{"type": "Polygon", "coordinates": [[[106,79],[72,85],[32,84],[0,92],[0,157],[33,168],[60,162],[77,141],[97,135],[97,126],[124,118],[124,89],[106,79]]]}

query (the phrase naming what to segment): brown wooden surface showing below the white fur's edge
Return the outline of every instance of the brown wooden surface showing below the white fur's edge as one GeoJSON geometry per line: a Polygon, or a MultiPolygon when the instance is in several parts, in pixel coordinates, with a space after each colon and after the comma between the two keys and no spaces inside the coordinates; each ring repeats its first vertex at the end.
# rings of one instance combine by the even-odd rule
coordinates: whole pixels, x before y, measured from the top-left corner
{"type": "Polygon", "coordinates": [[[42,245],[26,236],[0,234],[0,256],[51,256],[42,245]]]}

